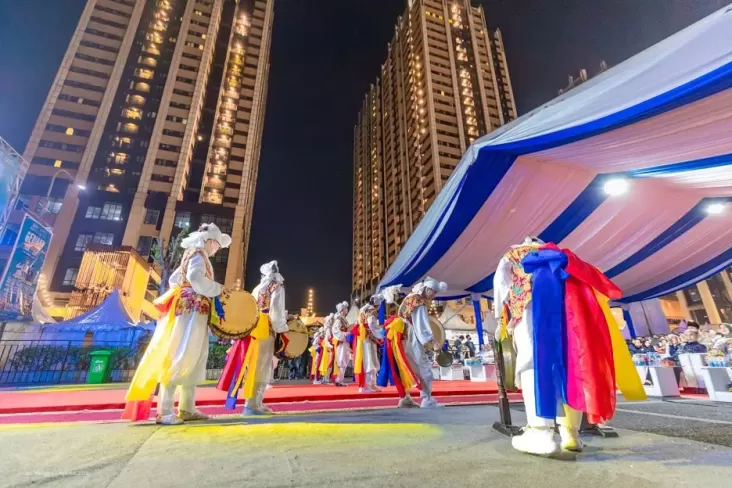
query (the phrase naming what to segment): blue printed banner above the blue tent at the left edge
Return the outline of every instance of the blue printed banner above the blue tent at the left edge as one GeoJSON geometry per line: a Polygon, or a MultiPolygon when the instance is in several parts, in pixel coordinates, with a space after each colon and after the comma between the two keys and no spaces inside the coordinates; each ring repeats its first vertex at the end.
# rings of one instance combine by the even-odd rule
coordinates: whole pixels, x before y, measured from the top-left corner
{"type": "Polygon", "coordinates": [[[0,321],[31,320],[33,297],[50,243],[51,229],[26,214],[0,279],[0,321]]]}

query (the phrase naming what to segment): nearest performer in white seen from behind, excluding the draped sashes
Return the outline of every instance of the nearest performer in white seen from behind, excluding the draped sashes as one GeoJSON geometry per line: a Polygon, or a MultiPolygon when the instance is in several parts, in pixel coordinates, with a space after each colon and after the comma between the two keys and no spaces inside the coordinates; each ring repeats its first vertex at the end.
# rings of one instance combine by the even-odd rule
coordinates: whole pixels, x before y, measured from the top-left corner
{"type": "Polygon", "coordinates": [[[524,433],[512,438],[513,447],[522,452],[550,455],[559,451],[554,440],[554,422],[559,425],[561,447],[572,451],[582,450],[579,426],[582,413],[562,406],[556,419],[545,419],[536,414],[534,396],[534,344],[531,318],[531,276],[524,272],[521,261],[538,249],[541,240],[527,237],[520,245],[513,246],[498,263],[493,280],[494,314],[498,327],[496,340],[505,334],[513,336],[516,348],[516,385],[521,388],[526,409],[527,426],[524,433]]]}

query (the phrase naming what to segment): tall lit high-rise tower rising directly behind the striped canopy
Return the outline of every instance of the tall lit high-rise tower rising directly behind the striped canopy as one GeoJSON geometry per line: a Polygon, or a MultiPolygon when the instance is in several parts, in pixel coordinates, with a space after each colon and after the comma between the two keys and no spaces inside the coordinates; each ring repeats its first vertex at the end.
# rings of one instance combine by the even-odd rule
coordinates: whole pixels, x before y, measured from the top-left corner
{"type": "Polygon", "coordinates": [[[374,291],[470,144],[515,118],[483,8],[410,0],[354,129],[354,297],[374,291]]]}

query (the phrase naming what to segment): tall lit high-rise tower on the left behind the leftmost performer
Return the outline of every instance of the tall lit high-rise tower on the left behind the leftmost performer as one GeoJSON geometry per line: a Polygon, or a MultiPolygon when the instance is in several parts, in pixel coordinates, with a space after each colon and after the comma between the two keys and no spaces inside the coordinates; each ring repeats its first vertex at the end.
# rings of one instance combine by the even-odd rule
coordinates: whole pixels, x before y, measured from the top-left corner
{"type": "Polygon", "coordinates": [[[203,222],[232,236],[217,279],[243,279],[273,1],[88,0],[23,154],[21,200],[54,230],[40,287],[57,305],[88,246],[145,258],[203,222]]]}

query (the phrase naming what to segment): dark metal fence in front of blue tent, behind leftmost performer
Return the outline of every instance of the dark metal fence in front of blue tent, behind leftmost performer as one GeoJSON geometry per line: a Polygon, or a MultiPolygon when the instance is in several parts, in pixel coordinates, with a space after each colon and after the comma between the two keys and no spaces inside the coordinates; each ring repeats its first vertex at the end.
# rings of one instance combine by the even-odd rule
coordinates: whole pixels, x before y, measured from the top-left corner
{"type": "MultiPolygon", "coordinates": [[[[0,386],[32,384],[85,383],[92,351],[112,351],[111,382],[132,380],[146,344],[128,342],[95,342],[62,340],[0,341],[0,386]]],[[[209,345],[206,377],[216,379],[226,361],[228,344],[209,345]]]]}

